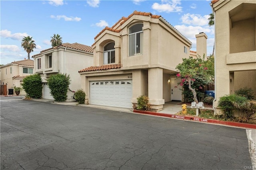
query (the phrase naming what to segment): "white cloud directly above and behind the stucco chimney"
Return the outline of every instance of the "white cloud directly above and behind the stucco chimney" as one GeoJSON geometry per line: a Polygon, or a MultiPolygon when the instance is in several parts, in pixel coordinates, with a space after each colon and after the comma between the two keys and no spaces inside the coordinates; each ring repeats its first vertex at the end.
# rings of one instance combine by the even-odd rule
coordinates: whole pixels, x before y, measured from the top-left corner
{"type": "Polygon", "coordinates": [[[200,27],[200,26],[192,26],[192,25],[176,25],[174,26],[182,35],[184,35],[186,38],[191,39],[196,36],[196,34],[200,32],[206,33],[212,33],[212,29],[209,27],[200,27]]]}

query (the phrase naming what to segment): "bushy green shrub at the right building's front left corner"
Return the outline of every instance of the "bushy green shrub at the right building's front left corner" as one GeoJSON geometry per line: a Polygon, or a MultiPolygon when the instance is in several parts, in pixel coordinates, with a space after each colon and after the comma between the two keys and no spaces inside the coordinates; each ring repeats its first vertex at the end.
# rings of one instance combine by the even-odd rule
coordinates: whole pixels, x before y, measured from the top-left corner
{"type": "Polygon", "coordinates": [[[225,120],[234,120],[234,111],[244,105],[246,101],[247,98],[236,94],[226,95],[220,97],[218,107],[224,111],[225,120]]]}

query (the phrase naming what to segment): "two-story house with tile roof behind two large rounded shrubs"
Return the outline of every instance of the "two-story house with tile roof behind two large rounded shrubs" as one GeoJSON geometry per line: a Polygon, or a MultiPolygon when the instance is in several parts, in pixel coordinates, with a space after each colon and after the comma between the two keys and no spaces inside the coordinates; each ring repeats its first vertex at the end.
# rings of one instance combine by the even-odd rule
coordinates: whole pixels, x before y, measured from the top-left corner
{"type": "MultiPolygon", "coordinates": [[[[70,90],[81,89],[80,74],[78,70],[93,64],[92,47],[79,43],[63,43],[33,55],[35,73],[42,77],[42,98],[53,99],[47,84],[51,74],[67,74],[70,76],[70,90]]],[[[68,91],[68,100],[72,99],[74,93],[68,91]]]]}

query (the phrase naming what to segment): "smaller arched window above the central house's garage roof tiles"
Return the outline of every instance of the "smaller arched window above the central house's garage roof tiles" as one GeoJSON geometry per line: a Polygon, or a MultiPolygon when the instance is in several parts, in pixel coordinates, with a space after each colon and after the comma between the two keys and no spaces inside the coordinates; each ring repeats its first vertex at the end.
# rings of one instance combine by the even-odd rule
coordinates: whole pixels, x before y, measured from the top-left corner
{"type": "Polygon", "coordinates": [[[108,43],[103,51],[104,51],[104,64],[115,63],[115,43],[108,43]]]}

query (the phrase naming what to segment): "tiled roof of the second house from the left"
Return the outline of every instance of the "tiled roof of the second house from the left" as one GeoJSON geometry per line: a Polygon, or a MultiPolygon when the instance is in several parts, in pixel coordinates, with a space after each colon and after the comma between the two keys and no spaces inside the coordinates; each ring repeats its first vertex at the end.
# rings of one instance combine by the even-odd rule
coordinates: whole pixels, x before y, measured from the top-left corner
{"type": "Polygon", "coordinates": [[[93,53],[93,49],[92,49],[91,46],[83,45],[83,44],[79,44],[79,43],[72,43],[72,44],[63,43],[63,44],[60,44],[58,46],[55,46],[55,47],[52,47],[52,48],[49,48],[49,49],[44,49],[44,50],[40,51],[39,54],[33,55],[32,57],[40,55],[41,53],[43,53],[45,51],[48,51],[48,50],[51,50],[51,49],[58,49],[60,47],[66,47],[66,48],[70,48],[70,49],[76,49],[76,50],[81,50],[81,51],[85,51],[85,52],[88,52],[88,53],[93,53]]]}

